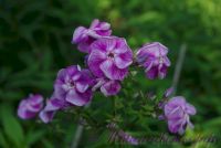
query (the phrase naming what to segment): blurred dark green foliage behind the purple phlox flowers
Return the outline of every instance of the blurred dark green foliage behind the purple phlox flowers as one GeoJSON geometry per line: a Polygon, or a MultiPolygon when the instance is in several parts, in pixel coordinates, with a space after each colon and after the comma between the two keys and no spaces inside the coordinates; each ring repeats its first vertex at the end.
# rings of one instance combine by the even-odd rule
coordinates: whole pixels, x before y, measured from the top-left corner
{"type": "MultiPolygon", "coordinates": [[[[144,73],[137,77],[145,91],[164,92],[170,86],[179,49],[187,44],[177,94],[193,104],[198,114],[191,119],[194,130],[185,136],[221,137],[221,0],[0,0],[0,147],[71,146],[78,120],[75,114],[60,113],[52,124],[44,125],[38,119],[19,119],[17,107],[30,92],[50,96],[60,68],[83,65],[84,54],[71,44],[72,34],[76,27],[88,27],[95,18],[110,22],[113,34],[126,38],[133,50],[152,41],[170,49],[172,66],[166,80],[148,81],[144,73]]],[[[120,95],[125,94],[129,96],[127,92],[120,95]]],[[[93,116],[102,120],[101,114],[108,112],[105,107],[109,103],[102,95],[95,96],[93,116]]],[[[151,133],[152,123],[156,133],[167,133],[166,123],[144,117],[139,119],[140,129],[130,125],[122,128],[139,136],[141,131],[151,133]]],[[[105,130],[86,128],[80,147],[108,147],[105,130]]],[[[221,144],[157,146],[219,148],[221,144]]]]}

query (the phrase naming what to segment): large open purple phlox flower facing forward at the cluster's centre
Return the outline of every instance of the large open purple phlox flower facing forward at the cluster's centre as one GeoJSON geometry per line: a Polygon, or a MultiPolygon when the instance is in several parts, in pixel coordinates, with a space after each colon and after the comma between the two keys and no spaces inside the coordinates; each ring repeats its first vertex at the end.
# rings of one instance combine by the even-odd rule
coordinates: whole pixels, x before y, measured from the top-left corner
{"type": "Polygon", "coordinates": [[[133,63],[133,52],[122,38],[95,41],[88,56],[88,67],[96,77],[123,81],[133,63]]]}

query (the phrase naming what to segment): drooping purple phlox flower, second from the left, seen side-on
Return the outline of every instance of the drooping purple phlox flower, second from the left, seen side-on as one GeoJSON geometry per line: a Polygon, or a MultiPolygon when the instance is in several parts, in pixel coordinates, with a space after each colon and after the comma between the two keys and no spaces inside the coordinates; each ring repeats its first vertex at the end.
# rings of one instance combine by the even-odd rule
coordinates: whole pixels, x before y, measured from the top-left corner
{"type": "Polygon", "coordinates": [[[39,117],[41,118],[41,120],[43,123],[50,123],[55,113],[60,109],[64,109],[66,107],[71,106],[71,104],[69,104],[67,102],[65,102],[64,99],[59,99],[56,97],[54,97],[54,95],[46,101],[46,105],[45,107],[40,112],[39,117]]]}

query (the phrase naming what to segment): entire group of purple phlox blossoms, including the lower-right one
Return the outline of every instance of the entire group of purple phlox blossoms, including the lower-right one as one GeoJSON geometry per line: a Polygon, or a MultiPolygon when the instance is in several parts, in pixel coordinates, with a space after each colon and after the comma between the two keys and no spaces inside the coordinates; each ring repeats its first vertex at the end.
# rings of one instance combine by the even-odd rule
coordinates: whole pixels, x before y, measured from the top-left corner
{"type": "MultiPolygon", "coordinates": [[[[29,119],[39,115],[43,123],[50,123],[57,110],[87,105],[95,92],[101,92],[106,97],[117,95],[133,63],[144,67],[149,80],[165,78],[170,66],[168,49],[161,43],[145,44],[133,53],[124,38],[112,35],[109,23],[97,19],[88,29],[76,28],[72,43],[86,54],[86,68],[71,65],[60,70],[54,92],[45,105],[40,94],[30,95],[19,105],[20,118],[29,119]]],[[[183,97],[172,97],[165,102],[162,110],[171,133],[182,134],[187,125],[192,126],[189,115],[194,115],[196,109],[183,97]]]]}

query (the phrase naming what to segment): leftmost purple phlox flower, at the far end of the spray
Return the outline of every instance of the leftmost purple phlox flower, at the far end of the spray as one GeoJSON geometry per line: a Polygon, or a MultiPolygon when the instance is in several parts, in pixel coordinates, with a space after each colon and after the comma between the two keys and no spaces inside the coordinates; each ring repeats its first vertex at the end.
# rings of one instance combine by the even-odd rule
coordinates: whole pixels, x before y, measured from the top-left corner
{"type": "Polygon", "coordinates": [[[43,107],[43,97],[40,94],[30,94],[28,98],[22,99],[19,104],[18,116],[22,119],[30,119],[43,107]]]}

